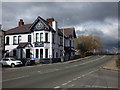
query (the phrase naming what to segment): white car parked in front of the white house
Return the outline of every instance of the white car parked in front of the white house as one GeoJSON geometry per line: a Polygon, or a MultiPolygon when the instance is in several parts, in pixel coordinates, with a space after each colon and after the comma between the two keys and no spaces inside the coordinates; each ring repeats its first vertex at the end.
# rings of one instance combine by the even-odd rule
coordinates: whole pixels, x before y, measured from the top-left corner
{"type": "Polygon", "coordinates": [[[20,60],[16,60],[14,58],[3,58],[0,63],[2,66],[11,66],[15,67],[17,65],[22,65],[22,62],[20,60]]]}

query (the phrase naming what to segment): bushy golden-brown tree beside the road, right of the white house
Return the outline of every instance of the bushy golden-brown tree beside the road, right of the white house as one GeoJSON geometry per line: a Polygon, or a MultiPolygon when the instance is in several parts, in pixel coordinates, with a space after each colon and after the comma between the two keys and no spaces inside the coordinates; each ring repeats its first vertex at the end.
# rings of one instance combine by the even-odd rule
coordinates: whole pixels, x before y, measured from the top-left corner
{"type": "Polygon", "coordinates": [[[81,35],[75,39],[75,45],[82,55],[94,52],[94,50],[100,50],[102,44],[100,37],[97,35],[81,35]]]}

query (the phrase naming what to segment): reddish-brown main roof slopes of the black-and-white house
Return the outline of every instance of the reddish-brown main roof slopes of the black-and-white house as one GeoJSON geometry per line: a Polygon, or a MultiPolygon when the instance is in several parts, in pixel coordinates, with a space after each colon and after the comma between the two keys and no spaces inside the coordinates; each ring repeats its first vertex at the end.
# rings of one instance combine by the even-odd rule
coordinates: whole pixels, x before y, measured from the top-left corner
{"type": "MultiPolygon", "coordinates": [[[[49,18],[47,20],[44,20],[40,16],[38,16],[38,18],[40,18],[52,31],[54,31],[53,28],[50,25],[51,21],[52,20],[54,21],[54,18],[49,18]]],[[[22,26],[18,26],[18,27],[15,27],[15,28],[12,28],[12,29],[9,29],[9,30],[5,31],[5,34],[6,35],[12,35],[12,34],[29,33],[32,25],[33,24],[24,24],[22,26]]],[[[63,35],[63,28],[58,29],[58,34],[63,35]]],[[[74,34],[74,36],[76,37],[75,28],[64,28],[64,34],[65,34],[65,37],[69,37],[69,35],[71,35],[71,34],[74,34]]]]}

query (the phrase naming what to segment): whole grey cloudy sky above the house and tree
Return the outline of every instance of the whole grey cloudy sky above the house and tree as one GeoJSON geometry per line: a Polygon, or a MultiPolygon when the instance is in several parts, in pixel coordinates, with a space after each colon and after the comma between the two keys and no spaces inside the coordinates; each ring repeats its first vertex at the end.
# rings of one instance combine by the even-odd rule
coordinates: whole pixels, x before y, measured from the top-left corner
{"type": "Polygon", "coordinates": [[[37,16],[54,17],[62,27],[75,27],[77,35],[99,35],[104,49],[115,50],[118,39],[117,2],[3,2],[2,25],[7,30],[18,25],[33,23],[37,16]]]}

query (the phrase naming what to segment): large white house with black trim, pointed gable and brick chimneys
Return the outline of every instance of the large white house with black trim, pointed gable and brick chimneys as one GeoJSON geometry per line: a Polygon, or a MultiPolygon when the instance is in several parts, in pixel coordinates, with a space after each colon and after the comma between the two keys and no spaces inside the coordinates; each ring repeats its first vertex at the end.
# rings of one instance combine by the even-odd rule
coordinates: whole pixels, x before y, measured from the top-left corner
{"type": "Polygon", "coordinates": [[[56,60],[64,52],[65,58],[69,59],[74,56],[74,38],[75,28],[64,28],[63,35],[63,28],[58,28],[54,18],[44,20],[38,16],[32,24],[24,24],[20,19],[17,27],[5,32],[6,56],[56,60]]]}

